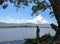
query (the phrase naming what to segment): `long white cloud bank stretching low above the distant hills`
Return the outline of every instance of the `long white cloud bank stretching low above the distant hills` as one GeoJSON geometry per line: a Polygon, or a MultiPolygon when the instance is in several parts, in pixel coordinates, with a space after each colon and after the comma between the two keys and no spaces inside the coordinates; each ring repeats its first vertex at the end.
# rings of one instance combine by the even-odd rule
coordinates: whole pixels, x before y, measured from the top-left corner
{"type": "Polygon", "coordinates": [[[24,20],[24,19],[13,19],[10,18],[9,16],[6,17],[8,19],[7,23],[35,23],[35,24],[46,24],[48,23],[48,21],[41,15],[36,16],[33,19],[29,19],[29,20],[24,20]]]}

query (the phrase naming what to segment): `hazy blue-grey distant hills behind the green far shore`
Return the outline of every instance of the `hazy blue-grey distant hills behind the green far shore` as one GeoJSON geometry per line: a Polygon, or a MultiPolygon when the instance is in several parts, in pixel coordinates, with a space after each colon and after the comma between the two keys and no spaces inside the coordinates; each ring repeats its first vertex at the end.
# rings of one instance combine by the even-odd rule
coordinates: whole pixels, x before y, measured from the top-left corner
{"type": "Polygon", "coordinates": [[[33,24],[33,23],[3,23],[3,22],[0,22],[0,26],[41,26],[41,27],[50,27],[49,24],[33,24]]]}

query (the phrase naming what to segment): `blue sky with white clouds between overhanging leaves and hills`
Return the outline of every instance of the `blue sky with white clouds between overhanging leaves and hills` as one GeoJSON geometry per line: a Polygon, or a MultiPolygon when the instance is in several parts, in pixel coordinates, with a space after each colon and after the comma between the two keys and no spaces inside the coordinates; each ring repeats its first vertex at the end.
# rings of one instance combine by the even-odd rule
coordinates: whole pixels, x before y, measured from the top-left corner
{"type": "Polygon", "coordinates": [[[8,7],[6,9],[2,9],[0,7],[0,22],[5,22],[5,23],[35,23],[35,24],[50,24],[50,23],[55,23],[56,24],[56,19],[55,17],[51,17],[49,15],[49,9],[45,10],[45,12],[40,12],[39,15],[34,15],[32,16],[32,4],[30,6],[25,7],[23,9],[23,6],[20,7],[17,10],[16,7],[14,7],[13,4],[8,3],[8,7]]]}

